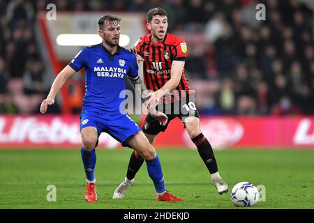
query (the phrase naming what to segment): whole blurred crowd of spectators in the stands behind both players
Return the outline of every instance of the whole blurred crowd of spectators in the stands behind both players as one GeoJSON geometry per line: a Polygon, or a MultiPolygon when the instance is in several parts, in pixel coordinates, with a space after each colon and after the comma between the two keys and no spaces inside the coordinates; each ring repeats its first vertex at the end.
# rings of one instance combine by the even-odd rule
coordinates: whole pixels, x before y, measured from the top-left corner
{"type": "Polygon", "coordinates": [[[314,114],[313,11],[301,0],[0,0],[0,113],[38,113],[49,91],[34,29],[47,3],[167,10],[168,32],[188,45],[186,75],[201,114],[314,114]],[[257,3],[266,20],[255,18],[257,3]]]}

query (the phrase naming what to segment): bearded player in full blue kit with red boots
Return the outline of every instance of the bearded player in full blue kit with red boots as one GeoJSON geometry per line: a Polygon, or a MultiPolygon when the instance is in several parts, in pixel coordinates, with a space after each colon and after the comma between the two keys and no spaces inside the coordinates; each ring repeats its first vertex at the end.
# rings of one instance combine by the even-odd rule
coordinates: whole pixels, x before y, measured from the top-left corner
{"type": "MultiPolygon", "coordinates": [[[[101,132],[107,132],[124,146],[129,146],[140,153],[146,160],[147,171],[156,189],[157,201],[183,201],[165,191],[163,172],[156,155],[154,146],[149,144],[147,137],[127,114],[120,111],[124,98],[120,98],[125,90],[125,77],[128,76],[133,84],[140,84],[142,102],[148,95],[138,75],[138,65],[135,55],[119,46],[120,18],[105,15],[98,21],[98,34],[103,42],[91,47],[84,47],[73,61],[64,68],[51,86],[50,93],[40,105],[40,112],[47,112],[48,105],[54,104],[54,98],[68,78],[75,72],[85,68],[85,89],[83,108],[80,116],[80,133],[82,137],[82,162],[86,174],[85,200],[97,201],[95,148],[101,132]]],[[[167,123],[167,116],[156,110],[150,110],[152,116],[160,124],[167,123]]]]}

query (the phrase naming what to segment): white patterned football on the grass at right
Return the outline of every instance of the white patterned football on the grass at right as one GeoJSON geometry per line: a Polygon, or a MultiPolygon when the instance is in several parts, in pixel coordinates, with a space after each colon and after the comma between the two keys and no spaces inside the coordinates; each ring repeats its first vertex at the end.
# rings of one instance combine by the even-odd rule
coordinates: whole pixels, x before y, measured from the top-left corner
{"type": "Polygon", "coordinates": [[[231,201],[239,207],[255,206],[259,197],[257,188],[249,182],[237,183],[231,191],[231,201]]]}

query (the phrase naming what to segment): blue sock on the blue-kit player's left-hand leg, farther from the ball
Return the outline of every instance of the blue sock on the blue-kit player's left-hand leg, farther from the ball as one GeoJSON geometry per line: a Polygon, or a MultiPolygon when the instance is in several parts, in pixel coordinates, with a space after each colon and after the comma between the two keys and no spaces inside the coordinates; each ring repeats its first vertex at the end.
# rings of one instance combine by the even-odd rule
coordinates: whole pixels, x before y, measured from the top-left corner
{"type": "Polygon", "coordinates": [[[95,148],[92,151],[85,151],[81,148],[82,161],[87,180],[95,180],[94,169],[96,165],[96,153],[95,148]]]}

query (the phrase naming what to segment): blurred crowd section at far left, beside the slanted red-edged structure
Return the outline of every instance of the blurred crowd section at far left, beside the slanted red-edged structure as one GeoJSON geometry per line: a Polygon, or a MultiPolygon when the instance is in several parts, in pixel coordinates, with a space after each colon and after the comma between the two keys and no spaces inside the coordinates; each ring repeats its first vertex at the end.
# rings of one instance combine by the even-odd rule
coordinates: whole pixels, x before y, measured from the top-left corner
{"type": "Polygon", "coordinates": [[[35,32],[36,10],[31,1],[0,0],[0,113],[38,111],[49,91],[45,63],[35,32]]]}

